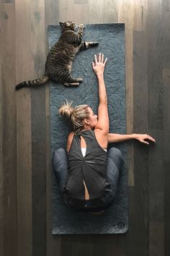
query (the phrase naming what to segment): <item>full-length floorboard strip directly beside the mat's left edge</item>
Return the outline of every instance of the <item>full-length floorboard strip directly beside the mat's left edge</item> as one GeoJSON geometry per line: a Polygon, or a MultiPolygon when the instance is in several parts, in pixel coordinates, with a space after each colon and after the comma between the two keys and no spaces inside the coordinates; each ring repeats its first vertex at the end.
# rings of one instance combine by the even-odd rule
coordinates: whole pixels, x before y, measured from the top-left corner
{"type": "MultiPolygon", "coordinates": [[[[31,1],[35,77],[45,70],[45,3],[31,1]]],[[[32,256],[47,255],[45,86],[32,88],[32,256]],[[41,234],[41,235],[40,235],[41,234]]]]}

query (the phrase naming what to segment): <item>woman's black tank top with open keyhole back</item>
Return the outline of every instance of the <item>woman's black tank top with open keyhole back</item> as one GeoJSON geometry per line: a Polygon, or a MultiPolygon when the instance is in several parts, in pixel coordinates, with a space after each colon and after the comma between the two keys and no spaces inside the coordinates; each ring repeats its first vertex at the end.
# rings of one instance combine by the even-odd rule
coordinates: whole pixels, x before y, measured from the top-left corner
{"type": "Polygon", "coordinates": [[[68,153],[68,176],[63,197],[76,208],[102,209],[112,196],[106,175],[107,153],[99,145],[93,130],[86,130],[73,136],[68,153]],[[86,155],[81,153],[81,136],[86,141],[86,155]],[[85,200],[85,188],[90,200],[85,200]]]}

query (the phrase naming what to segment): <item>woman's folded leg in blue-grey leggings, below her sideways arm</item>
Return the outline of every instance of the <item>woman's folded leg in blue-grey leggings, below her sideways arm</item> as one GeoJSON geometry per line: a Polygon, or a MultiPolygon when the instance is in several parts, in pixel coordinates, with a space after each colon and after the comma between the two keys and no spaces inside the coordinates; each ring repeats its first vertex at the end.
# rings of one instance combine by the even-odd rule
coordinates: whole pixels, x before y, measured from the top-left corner
{"type": "Polygon", "coordinates": [[[117,184],[122,170],[122,153],[117,148],[110,148],[107,153],[107,177],[112,187],[113,197],[117,192],[117,184]]]}

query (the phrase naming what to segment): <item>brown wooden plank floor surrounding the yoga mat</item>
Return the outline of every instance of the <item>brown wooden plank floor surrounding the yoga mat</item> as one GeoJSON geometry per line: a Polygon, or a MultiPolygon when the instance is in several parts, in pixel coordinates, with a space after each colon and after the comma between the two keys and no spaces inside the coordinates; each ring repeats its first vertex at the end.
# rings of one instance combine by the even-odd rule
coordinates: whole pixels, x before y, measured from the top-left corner
{"type": "Polygon", "coordinates": [[[170,255],[170,0],[1,0],[0,255],[170,255]],[[129,230],[51,234],[49,86],[14,85],[44,72],[47,26],[125,22],[129,230]]]}

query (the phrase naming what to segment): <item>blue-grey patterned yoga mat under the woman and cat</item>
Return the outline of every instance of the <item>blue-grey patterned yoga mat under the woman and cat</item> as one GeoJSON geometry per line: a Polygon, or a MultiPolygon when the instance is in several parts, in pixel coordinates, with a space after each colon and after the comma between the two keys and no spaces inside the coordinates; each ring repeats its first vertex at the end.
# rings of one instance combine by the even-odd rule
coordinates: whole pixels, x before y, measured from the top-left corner
{"type": "MultiPolygon", "coordinates": [[[[48,27],[49,47],[61,35],[59,25],[48,27]]],[[[73,62],[73,76],[82,77],[79,87],[64,87],[50,83],[50,131],[51,155],[58,148],[66,149],[66,140],[71,126],[59,116],[58,108],[66,100],[73,105],[88,104],[97,113],[97,78],[92,71],[91,62],[99,52],[108,58],[104,80],[108,95],[109,131],[126,133],[125,105],[125,25],[98,24],[86,25],[83,40],[98,41],[99,46],[81,51],[73,62]]],[[[118,184],[113,204],[102,215],[76,212],[64,205],[58,190],[58,183],[52,170],[52,224],[53,234],[113,234],[128,230],[128,192],[125,144],[111,145],[120,148],[125,164],[118,184]]]]}

